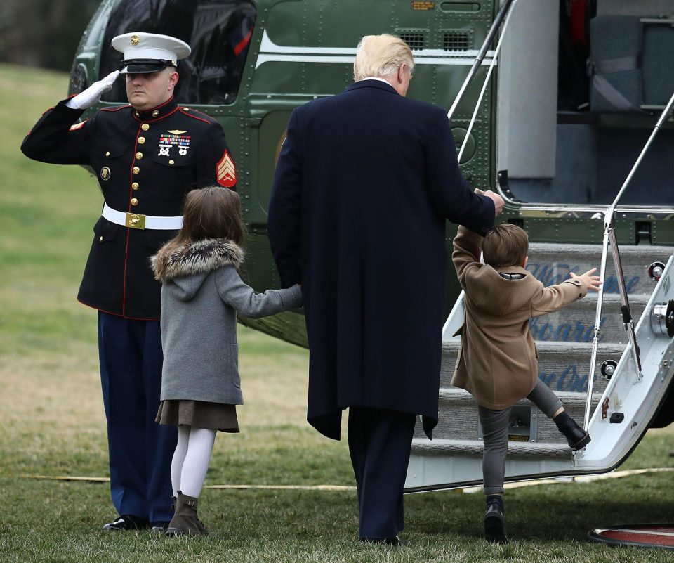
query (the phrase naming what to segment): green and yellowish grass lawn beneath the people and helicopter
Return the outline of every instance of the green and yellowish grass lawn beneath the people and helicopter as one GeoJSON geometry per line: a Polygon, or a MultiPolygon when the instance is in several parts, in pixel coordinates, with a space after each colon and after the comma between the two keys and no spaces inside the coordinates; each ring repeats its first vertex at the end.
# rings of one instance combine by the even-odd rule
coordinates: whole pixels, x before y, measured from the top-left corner
{"type": "MultiPolygon", "coordinates": [[[[484,543],[481,494],[406,498],[407,548],[357,541],[355,491],[206,488],[208,538],[111,534],[95,311],[77,303],[102,199],[84,169],[32,162],[19,145],[65,96],[67,76],[0,65],[1,562],[665,562],[665,550],[586,541],[608,524],[674,522],[670,473],[519,488],[506,495],[513,542],[484,543]]],[[[219,434],[206,485],[352,485],[345,441],[305,422],[308,354],[239,328],[242,433],[219,434]]],[[[651,431],[623,469],[672,467],[670,429],[651,431]]]]}

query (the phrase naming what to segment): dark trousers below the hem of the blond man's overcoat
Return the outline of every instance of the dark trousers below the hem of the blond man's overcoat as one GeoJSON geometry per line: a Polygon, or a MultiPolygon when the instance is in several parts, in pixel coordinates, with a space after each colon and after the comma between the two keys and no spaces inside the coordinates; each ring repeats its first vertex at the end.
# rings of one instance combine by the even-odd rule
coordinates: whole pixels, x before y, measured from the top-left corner
{"type": "Polygon", "coordinates": [[[356,478],[360,537],[392,538],[404,528],[402,491],[415,416],[349,409],[349,452],[356,478]]]}

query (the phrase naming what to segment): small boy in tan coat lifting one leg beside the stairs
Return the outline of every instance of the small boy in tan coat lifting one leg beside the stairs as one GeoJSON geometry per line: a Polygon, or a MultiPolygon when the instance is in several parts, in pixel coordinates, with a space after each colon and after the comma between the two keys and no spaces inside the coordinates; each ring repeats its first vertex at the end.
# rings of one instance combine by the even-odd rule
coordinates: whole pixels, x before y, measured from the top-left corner
{"type": "Polygon", "coordinates": [[[574,450],[590,435],[568,415],[562,402],[538,379],[538,360],[529,319],[562,309],[599,290],[593,268],[582,276],[543,287],[525,268],[529,238],[520,227],[497,225],[484,239],[461,226],[452,261],[465,292],[461,349],[451,384],[477,402],[484,437],[482,477],[487,495],[487,540],[508,543],[503,522],[503,481],[508,451],[510,407],[527,397],[552,418],[574,450]],[[480,262],[480,251],[484,264],[480,262]]]}

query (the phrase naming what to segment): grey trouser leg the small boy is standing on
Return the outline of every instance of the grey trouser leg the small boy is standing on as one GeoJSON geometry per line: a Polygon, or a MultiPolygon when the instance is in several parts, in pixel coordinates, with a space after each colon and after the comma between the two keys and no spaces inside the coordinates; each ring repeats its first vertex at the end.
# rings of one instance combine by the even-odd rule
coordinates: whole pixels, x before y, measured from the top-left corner
{"type": "Polygon", "coordinates": [[[485,495],[503,493],[505,481],[505,454],[508,453],[508,421],[510,408],[489,410],[477,407],[484,439],[482,454],[482,481],[485,495]]]}

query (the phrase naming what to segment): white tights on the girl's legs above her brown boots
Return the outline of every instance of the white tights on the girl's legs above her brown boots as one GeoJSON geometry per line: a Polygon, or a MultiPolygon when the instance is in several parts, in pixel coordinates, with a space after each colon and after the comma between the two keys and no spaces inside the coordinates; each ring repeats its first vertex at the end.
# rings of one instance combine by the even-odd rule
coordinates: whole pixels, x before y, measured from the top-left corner
{"type": "Polygon", "coordinates": [[[173,496],[178,496],[180,491],[199,498],[215,441],[216,430],[178,426],[178,445],[171,461],[173,496]]]}

